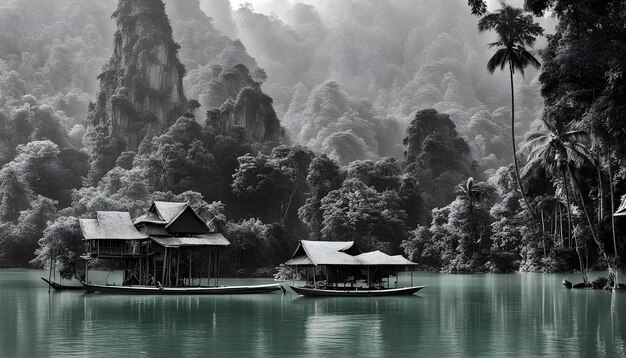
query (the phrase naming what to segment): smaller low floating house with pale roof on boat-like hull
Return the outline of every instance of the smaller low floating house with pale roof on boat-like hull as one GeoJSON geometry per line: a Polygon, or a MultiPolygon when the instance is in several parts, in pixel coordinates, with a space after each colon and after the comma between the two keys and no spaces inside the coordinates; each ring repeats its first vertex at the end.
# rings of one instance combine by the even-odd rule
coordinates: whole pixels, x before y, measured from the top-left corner
{"type": "Polygon", "coordinates": [[[413,286],[416,263],[402,255],[362,253],[354,241],[302,240],[285,265],[293,269],[294,277],[299,274],[305,277],[304,286],[292,286],[303,295],[385,296],[413,294],[423,288],[413,286]],[[398,272],[409,269],[411,286],[398,287],[398,272]],[[393,285],[391,277],[395,277],[393,285]]]}

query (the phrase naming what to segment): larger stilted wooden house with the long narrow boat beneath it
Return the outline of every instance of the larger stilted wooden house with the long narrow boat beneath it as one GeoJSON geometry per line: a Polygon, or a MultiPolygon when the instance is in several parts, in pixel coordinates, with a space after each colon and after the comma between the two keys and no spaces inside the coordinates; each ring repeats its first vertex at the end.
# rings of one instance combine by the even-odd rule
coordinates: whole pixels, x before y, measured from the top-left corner
{"type": "Polygon", "coordinates": [[[280,289],[278,284],[219,286],[221,250],[230,242],[211,230],[188,203],[155,201],[134,222],[129,213],[117,211],[99,211],[96,219],[79,221],[86,242],[87,291],[210,294],[280,289]],[[117,260],[123,284],[89,282],[88,266],[94,259],[117,260]]]}

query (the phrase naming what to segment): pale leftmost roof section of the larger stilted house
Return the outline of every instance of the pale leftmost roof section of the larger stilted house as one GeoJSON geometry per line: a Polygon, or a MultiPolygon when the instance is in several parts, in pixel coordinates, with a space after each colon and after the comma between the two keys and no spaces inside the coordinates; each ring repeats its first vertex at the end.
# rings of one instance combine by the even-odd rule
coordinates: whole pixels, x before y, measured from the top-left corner
{"type": "Polygon", "coordinates": [[[125,211],[98,211],[96,219],[79,219],[84,240],[144,240],[125,211]]]}

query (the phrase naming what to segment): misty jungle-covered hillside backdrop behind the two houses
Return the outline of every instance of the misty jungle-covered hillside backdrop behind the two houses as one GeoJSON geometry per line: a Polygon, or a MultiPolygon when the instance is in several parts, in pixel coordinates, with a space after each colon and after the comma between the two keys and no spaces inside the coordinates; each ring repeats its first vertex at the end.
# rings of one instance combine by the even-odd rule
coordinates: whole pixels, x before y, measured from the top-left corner
{"type": "Polygon", "coordinates": [[[4,0],[0,266],[71,275],[77,218],[158,199],[217,219],[233,275],[302,239],[454,272],[617,267],[623,138],[596,133],[624,128],[597,119],[623,108],[624,6],[560,3],[508,2],[543,29],[522,42],[541,67],[510,77],[466,0],[4,0]],[[585,132],[589,166],[537,164],[554,128],[585,132]]]}

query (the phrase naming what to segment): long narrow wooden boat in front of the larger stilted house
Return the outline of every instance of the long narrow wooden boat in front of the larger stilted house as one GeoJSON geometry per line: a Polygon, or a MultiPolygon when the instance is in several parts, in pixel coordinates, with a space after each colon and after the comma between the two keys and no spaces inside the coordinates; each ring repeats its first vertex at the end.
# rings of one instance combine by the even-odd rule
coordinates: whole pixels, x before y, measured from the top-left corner
{"type": "Polygon", "coordinates": [[[217,286],[217,287],[155,287],[155,286],[111,286],[94,285],[83,282],[88,293],[121,293],[142,295],[238,295],[254,293],[270,293],[281,289],[280,284],[251,286],[217,286]]]}

